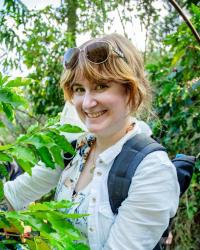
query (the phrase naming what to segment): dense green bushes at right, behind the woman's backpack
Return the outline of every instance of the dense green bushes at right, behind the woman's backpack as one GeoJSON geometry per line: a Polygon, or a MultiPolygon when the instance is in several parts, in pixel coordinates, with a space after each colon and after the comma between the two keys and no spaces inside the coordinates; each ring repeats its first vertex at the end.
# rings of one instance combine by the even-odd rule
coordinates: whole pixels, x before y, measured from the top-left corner
{"type": "MultiPolygon", "coordinates": [[[[199,26],[200,11],[192,6],[193,24],[199,26]]],[[[200,156],[200,47],[185,23],[164,41],[166,55],[146,66],[156,89],[155,109],[159,119],[153,132],[168,152],[200,156]]],[[[174,223],[173,249],[199,249],[200,159],[192,183],[181,199],[174,223]]]]}

